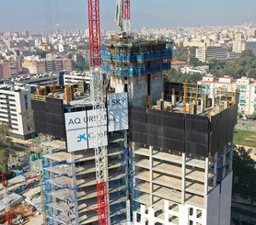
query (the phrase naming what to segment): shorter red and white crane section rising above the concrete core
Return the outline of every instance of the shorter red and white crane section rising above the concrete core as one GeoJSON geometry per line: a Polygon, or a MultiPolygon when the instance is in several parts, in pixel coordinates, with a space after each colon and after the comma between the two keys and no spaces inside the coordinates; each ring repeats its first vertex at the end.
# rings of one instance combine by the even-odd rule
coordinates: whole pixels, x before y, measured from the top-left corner
{"type": "Polygon", "coordinates": [[[122,33],[131,31],[131,2],[130,0],[116,1],[116,23],[122,33]]]}

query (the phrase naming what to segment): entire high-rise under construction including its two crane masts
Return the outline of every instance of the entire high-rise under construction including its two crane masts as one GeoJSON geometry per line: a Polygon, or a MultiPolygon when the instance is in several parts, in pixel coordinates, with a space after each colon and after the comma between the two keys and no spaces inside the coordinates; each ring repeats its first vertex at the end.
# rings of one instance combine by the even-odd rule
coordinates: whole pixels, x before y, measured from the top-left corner
{"type": "Polygon", "coordinates": [[[130,10],[101,41],[88,0],[89,88],[31,96],[36,132],[63,142],[41,152],[44,224],[229,224],[237,94],[169,83],[172,42],[135,37],[130,10]]]}

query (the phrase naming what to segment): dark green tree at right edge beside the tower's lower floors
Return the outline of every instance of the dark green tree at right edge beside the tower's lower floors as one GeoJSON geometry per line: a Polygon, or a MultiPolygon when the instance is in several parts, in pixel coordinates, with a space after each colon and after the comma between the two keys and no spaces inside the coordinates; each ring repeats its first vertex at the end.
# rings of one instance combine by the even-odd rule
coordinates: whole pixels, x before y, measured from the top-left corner
{"type": "Polygon", "coordinates": [[[239,147],[233,153],[233,197],[249,199],[252,207],[256,201],[256,162],[250,158],[250,152],[239,147]]]}

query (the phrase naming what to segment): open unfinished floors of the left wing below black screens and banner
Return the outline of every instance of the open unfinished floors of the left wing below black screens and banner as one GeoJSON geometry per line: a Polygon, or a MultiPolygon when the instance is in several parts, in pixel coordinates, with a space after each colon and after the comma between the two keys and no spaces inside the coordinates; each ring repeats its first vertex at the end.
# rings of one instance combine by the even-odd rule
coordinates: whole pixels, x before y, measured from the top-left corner
{"type": "MultiPolygon", "coordinates": [[[[127,131],[113,132],[107,149],[110,224],[122,224],[129,197],[127,131]]],[[[99,220],[92,149],[45,153],[42,167],[48,224],[91,224],[99,220]]]]}

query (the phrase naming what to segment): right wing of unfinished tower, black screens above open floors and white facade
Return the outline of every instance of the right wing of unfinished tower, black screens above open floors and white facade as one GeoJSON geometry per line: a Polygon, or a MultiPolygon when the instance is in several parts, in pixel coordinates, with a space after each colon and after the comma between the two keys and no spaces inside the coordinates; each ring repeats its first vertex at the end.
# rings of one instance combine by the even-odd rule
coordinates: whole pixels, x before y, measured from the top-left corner
{"type": "Polygon", "coordinates": [[[237,104],[196,85],[166,88],[169,102],[132,109],[134,224],[229,224],[237,104]]]}

